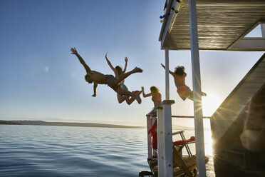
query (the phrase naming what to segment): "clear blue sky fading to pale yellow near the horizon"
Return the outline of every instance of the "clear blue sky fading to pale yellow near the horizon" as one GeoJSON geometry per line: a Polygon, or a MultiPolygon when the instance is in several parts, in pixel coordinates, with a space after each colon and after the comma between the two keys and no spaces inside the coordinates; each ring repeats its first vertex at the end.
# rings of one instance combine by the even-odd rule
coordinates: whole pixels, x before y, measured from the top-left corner
{"type": "MultiPolygon", "coordinates": [[[[158,41],[165,1],[153,0],[1,0],[0,3],[0,119],[115,123],[145,126],[152,111],[150,97],[130,106],[118,103],[113,89],[85,82],[85,69],[71,47],[76,47],[90,69],[113,74],[113,66],[135,66],[142,74],[125,79],[130,91],[157,86],[165,99],[165,51],[158,41]]],[[[262,52],[200,51],[204,116],[224,101],[262,52]]],[[[192,89],[190,51],[170,51],[170,70],[185,66],[192,89]]],[[[170,76],[172,115],[192,116],[193,102],[182,101],[170,76]]],[[[193,120],[174,120],[192,126],[193,120]]],[[[205,126],[209,123],[205,123],[205,126]]]]}

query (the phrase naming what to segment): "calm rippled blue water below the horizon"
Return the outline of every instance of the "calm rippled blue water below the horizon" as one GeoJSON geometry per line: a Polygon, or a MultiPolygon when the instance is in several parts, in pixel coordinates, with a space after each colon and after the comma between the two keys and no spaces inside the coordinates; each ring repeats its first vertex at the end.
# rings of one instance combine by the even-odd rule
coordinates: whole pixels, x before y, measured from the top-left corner
{"type": "MultiPolygon", "coordinates": [[[[211,155],[211,142],[205,141],[211,155]]],[[[207,176],[214,176],[212,169],[209,161],[207,176]]],[[[145,129],[0,126],[0,176],[138,176],[140,171],[150,171],[145,129]]]]}

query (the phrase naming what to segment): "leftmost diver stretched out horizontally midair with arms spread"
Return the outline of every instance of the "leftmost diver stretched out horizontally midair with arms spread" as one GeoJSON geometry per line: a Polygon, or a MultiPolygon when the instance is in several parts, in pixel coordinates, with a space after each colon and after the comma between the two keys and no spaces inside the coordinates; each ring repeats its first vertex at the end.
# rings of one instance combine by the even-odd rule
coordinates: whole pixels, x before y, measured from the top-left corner
{"type": "Polygon", "coordinates": [[[132,71],[122,74],[118,78],[115,78],[113,75],[105,75],[105,74],[101,74],[98,71],[92,71],[88,67],[88,65],[85,64],[85,61],[82,59],[82,57],[78,54],[78,52],[76,51],[76,48],[71,48],[71,51],[72,51],[71,54],[76,55],[80,63],[85,68],[85,71],[87,73],[85,75],[85,81],[87,81],[89,84],[94,83],[94,86],[93,86],[94,93],[92,95],[93,97],[96,96],[98,84],[107,84],[108,86],[110,86],[111,89],[113,89],[115,92],[119,93],[120,95],[132,96],[133,98],[137,100],[138,103],[142,102],[139,94],[132,93],[130,91],[125,91],[122,89],[122,86],[120,86],[120,82],[126,79],[128,76],[130,76],[130,74],[142,73],[142,69],[135,67],[135,69],[133,69],[132,71]]]}

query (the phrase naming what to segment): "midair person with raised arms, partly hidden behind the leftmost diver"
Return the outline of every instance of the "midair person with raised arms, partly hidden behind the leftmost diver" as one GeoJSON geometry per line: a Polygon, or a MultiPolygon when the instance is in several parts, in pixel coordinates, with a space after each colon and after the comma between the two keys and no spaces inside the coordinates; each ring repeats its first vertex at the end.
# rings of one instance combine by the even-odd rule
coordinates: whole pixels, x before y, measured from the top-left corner
{"type": "MultiPolygon", "coordinates": [[[[108,66],[110,66],[110,69],[113,70],[113,72],[115,74],[115,78],[118,79],[119,76],[125,74],[126,69],[127,69],[127,63],[128,63],[127,57],[125,57],[124,70],[120,66],[116,66],[115,68],[113,67],[113,65],[110,63],[110,60],[108,59],[108,52],[105,55],[105,59],[107,60],[107,63],[108,63],[108,66]]],[[[127,86],[125,86],[124,82],[125,82],[125,79],[123,79],[123,81],[120,82],[120,86],[122,87],[123,91],[128,91],[128,88],[127,88],[127,86]]],[[[142,91],[132,91],[132,93],[136,93],[136,94],[140,95],[140,93],[142,93],[142,91]]],[[[123,103],[123,101],[126,101],[126,103],[128,103],[128,105],[130,105],[131,103],[133,103],[133,101],[135,101],[135,97],[130,97],[127,95],[120,95],[120,93],[117,93],[117,98],[118,98],[119,103],[123,103]]]]}

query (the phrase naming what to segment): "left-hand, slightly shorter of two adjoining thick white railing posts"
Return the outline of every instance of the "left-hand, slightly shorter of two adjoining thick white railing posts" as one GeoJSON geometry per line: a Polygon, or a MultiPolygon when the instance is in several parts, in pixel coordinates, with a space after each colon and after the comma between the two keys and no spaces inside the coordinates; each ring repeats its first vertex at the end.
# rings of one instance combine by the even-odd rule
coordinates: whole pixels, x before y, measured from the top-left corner
{"type": "Polygon", "coordinates": [[[165,173],[165,159],[164,159],[164,117],[163,109],[157,109],[157,174],[159,177],[164,176],[165,173]]]}

